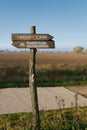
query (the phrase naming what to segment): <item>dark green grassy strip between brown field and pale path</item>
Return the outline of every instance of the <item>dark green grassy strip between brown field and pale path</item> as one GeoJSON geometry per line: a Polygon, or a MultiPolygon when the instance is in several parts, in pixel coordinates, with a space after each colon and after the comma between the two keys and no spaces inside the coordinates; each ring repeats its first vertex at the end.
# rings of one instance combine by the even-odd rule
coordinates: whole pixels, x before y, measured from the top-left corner
{"type": "MultiPolygon", "coordinates": [[[[36,84],[38,87],[86,86],[87,65],[75,66],[73,69],[64,65],[36,66],[36,84]]],[[[28,66],[0,67],[0,88],[27,87],[29,84],[28,66]]]]}

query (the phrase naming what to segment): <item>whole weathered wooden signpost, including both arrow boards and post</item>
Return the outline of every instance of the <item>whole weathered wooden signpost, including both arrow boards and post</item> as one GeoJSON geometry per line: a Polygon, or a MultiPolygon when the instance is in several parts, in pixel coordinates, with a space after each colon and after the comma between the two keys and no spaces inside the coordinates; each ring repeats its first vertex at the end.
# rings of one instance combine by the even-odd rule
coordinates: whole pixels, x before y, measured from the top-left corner
{"type": "Polygon", "coordinates": [[[30,34],[12,34],[12,45],[17,48],[30,48],[29,58],[29,87],[32,102],[33,128],[40,130],[38,95],[36,87],[36,51],[37,48],[55,48],[53,37],[49,34],[36,34],[36,27],[30,28],[30,34]]]}

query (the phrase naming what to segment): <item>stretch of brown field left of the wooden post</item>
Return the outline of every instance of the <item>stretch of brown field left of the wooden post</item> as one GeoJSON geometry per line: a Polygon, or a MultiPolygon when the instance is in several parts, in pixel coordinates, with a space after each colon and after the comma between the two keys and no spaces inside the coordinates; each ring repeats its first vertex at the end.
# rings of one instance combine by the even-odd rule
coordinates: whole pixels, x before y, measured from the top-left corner
{"type": "Polygon", "coordinates": [[[0,54],[0,66],[26,66],[28,53],[2,53],[0,54]]]}

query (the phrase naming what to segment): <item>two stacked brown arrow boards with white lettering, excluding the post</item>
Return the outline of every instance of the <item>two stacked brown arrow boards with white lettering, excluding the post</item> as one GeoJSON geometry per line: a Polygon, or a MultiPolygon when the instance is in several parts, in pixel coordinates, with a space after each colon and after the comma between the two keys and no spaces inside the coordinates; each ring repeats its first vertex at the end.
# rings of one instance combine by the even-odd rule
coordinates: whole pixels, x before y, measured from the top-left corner
{"type": "Polygon", "coordinates": [[[12,45],[17,48],[55,48],[49,34],[12,34],[12,45]]]}

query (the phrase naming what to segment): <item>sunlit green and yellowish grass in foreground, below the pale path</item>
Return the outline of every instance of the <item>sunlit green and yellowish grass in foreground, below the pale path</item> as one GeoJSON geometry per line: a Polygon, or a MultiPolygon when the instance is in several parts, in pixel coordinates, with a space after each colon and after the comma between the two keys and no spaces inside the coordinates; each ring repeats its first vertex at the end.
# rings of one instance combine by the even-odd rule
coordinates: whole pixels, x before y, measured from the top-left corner
{"type": "MultiPolygon", "coordinates": [[[[40,111],[40,130],[85,130],[87,107],[40,111]],[[85,114],[84,114],[85,112],[85,114]]],[[[18,113],[0,116],[0,130],[31,130],[32,114],[18,113]]]]}

